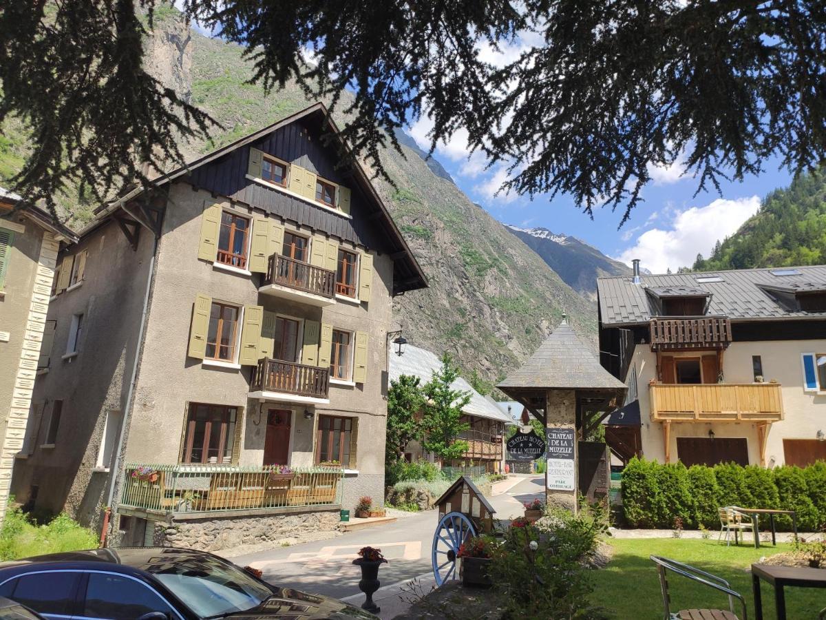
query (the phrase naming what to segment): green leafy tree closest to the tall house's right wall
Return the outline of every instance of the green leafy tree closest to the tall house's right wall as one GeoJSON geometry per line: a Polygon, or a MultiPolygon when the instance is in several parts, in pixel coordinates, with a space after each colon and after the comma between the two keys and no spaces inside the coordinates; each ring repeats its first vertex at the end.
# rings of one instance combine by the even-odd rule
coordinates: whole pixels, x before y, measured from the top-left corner
{"type": "Polygon", "coordinates": [[[420,379],[402,374],[390,382],[387,389],[387,443],[384,462],[386,466],[401,460],[407,444],[420,440],[423,432],[421,421],[425,406],[425,394],[420,379]]]}

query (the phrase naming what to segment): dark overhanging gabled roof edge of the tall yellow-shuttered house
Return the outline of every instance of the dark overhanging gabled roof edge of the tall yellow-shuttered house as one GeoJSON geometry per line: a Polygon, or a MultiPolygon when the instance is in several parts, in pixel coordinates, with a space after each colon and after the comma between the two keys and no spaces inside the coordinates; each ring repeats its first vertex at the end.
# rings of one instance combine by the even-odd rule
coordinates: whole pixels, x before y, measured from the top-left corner
{"type": "MultiPolygon", "coordinates": [[[[327,108],[323,103],[318,102],[304,108],[301,112],[296,112],[291,116],[282,118],[282,120],[278,122],[273,122],[271,125],[263,127],[263,129],[259,129],[259,131],[254,131],[243,138],[230,142],[228,145],[221,146],[220,149],[212,150],[207,153],[207,155],[203,155],[197,160],[187,162],[179,168],[173,169],[163,176],[154,179],[154,182],[159,187],[164,184],[171,183],[175,179],[180,179],[188,174],[191,174],[192,170],[197,169],[202,165],[206,165],[211,161],[217,160],[218,158],[223,157],[224,155],[227,155],[244,145],[249,145],[262,136],[266,136],[268,133],[309,117],[317,117],[320,122],[326,123],[332,135],[339,138],[339,144],[343,145],[344,148],[349,151],[349,147],[344,143],[344,141],[340,140],[339,136],[341,131],[335,124],[335,121],[333,121],[333,118],[330,116],[330,112],[327,111],[327,108]]],[[[378,226],[382,227],[383,232],[387,235],[387,239],[391,242],[391,258],[396,263],[396,271],[399,272],[398,274],[394,274],[394,278],[401,277],[401,281],[394,284],[394,293],[403,293],[408,290],[425,288],[428,285],[425,272],[421,269],[419,262],[415,259],[415,255],[413,255],[413,252],[410,249],[410,246],[407,245],[404,237],[401,236],[401,231],[399,231],[399,228],[396,227],[396,222],[393,221],[390,212],[387,210],[387,205],[384,204],[382,198],[376,192],[376,188],[374,188],[373,184],[370,183],[368,174],[364,171],[361,165],[358,164],[355,157],[353,157],[353,170],[354,179],[358,182],[359,187],[365,194],[368,195],[368,197],[372,198],[369,202],[372,202],[376,206],[376,209],[374,210],[374,213],[376,214],[375,222],[378,226]],[[398,269],[399,267],[401,267],[401,269],[398,269]]],[[[143,191],[143,188],[132,189],[129,193],[126,193],[112,203],[107,203],[102,207],[99,207],[96,211],[97,220],[99,221],[103,217],[115,212],[124,203],[136,198],[140,195],[140,193],[143,193],[143,191]]],[[[371,215],[371,217],[373,216],[371,215]]],[[[97,222],[93,222],[93,224],[87,227],[87,229],[84,229],[83,232],[92,230],[96,223],[97,222]]]]}

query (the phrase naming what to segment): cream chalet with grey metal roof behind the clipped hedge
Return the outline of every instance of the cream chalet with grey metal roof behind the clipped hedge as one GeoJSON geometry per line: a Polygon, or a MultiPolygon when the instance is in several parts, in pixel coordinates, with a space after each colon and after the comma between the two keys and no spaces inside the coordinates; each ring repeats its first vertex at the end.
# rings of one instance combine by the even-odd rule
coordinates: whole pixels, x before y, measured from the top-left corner
{"type": "Polygon", "coordinates": [[[826,459],[826,266],[597,282],[601,363],[628,385],[615,455],[806,465],[826,459]]]}

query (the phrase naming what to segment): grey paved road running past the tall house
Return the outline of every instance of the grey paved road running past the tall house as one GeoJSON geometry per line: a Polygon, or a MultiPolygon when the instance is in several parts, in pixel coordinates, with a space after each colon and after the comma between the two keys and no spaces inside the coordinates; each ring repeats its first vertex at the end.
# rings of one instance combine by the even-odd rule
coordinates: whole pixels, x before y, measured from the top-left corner
{"type": "MultiPolygon", "coordinates": [[[[519,475],[518,482],[510,486],[514,481],[500,483],[505,492],[489,498],[498,518],[520,516],[524,513],[522,503],[542,497],[544,478],[519,475]]],[[[252,565],[262,570],[263,578],[273,584],[344,599],[358,594],[361,571],[352,562],[358,549],[366,545],[381,548],[390,560],[380,570],[382,584],[394,584],[430,573],[430,548],[436,519],[437,513],[430,510],[330,540],[260,551],[231,560],[241,566],[252,565]]],[[[425,588],[429,589],[430,584],[432,578],[424,583],[425,588]]]]}

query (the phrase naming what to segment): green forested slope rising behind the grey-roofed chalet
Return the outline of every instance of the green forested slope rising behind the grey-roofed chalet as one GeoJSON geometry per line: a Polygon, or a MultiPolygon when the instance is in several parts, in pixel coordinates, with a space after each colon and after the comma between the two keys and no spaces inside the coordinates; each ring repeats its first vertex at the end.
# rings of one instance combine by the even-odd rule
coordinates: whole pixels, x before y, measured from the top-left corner
{"type": "Polygon", "coordinates": [[[826,263],[826,171],[801,174],[763,199],[760,210],[692,269],[826,263]]]}

